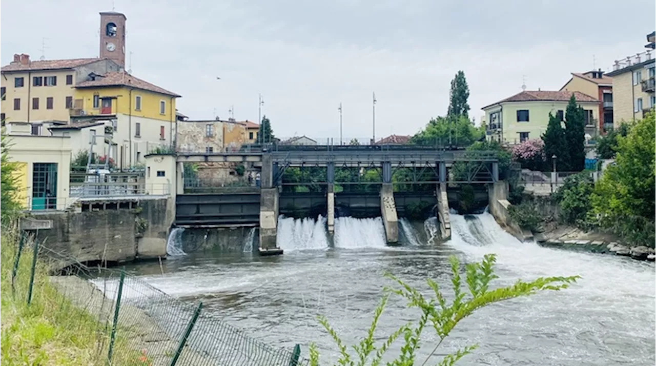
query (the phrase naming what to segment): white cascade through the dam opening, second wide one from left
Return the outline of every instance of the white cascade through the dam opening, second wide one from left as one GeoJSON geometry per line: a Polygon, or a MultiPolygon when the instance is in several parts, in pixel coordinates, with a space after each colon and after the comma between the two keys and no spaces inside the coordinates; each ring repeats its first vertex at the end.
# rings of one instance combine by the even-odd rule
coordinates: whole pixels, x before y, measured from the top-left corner
{"type": "Polygon", "coordinates": [[[335,218],[335,248],[385,248],[382,218],[335,218]]]}

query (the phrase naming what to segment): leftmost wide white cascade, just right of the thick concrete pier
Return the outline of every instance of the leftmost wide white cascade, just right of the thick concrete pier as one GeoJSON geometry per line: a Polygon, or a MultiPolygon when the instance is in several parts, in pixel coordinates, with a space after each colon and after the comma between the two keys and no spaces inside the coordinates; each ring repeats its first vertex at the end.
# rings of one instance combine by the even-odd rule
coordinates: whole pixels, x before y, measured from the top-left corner
{"type": "Polygon", "coordinates": [[[277,244],[285,252],[320,250],[328,248],[326,219],[318,218],[278,218],[277,244]]]}

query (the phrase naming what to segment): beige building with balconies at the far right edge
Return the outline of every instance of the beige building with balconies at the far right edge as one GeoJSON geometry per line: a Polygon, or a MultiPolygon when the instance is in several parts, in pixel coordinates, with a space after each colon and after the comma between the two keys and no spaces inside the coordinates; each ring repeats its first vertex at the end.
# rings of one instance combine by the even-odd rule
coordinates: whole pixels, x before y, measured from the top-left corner
{"type": "Polygon", "coordinates": [[[647,51],[615,61],[613,71],[613,122],[634,122],[656,106],[656,57],[647,51]]]}

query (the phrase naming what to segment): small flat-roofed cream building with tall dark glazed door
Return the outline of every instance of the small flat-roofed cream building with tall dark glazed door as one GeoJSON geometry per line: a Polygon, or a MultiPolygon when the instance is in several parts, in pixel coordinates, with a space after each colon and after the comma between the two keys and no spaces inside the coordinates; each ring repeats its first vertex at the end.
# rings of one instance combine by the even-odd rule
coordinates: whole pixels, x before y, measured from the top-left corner
{"type": "Polygon", "coordinates": [[[63,210],[70,205],[70,138],[12,136],[9,160],[18,165],[18,197],[25,209],[63,210]]]}

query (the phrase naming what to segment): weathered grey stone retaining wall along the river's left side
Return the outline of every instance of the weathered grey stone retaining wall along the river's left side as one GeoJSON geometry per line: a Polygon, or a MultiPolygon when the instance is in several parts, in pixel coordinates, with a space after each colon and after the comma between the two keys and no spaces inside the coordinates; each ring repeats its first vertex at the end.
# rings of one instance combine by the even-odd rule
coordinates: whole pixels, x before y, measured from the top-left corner
{"type": "Polygon", "coordinates": [[[105,202],[91,205],[91,211],[34,214],[52,220],[52,229],[37,232],[37,239],[61,254],[55,263],[58,268],[75,262],[121,263],[166,256],[172,201],[140,200],[133,209],[120,208],[125,202],[105,202]]]}

